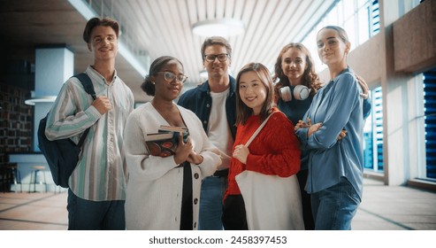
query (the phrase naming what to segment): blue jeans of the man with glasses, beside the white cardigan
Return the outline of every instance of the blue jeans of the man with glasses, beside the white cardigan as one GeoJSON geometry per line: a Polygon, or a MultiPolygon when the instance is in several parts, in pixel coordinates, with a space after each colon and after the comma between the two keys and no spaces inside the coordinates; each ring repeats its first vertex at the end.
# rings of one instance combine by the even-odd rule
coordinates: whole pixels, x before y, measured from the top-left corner
{"type": "Polygon", "coordinates": [[[223,198],[227,190],[227,177],[208,176],[202,182],[200,195],[199,230],[222,230],[223,198]]]}

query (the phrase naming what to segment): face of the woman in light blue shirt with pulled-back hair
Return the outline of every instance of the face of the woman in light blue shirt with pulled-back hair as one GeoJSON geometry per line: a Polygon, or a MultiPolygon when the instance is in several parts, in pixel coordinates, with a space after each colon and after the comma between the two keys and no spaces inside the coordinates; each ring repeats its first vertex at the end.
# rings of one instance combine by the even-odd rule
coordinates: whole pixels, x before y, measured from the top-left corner
{"type": "Polygon", "coordinates": [[[344,65],[350,43],[345,42],[332,28],[323,28],[317,34],[317,53],[327,66],[344,65]]]}

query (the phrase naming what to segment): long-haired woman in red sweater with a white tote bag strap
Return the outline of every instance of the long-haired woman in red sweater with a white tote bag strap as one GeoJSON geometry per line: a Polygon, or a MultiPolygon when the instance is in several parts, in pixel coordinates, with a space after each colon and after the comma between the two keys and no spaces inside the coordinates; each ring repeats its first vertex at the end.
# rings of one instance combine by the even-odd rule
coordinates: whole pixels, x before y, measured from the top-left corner
{"type": "Polygon", "coordinates": [[[291,176],[300,170],[301,151],[294,124],[274,103],[272,77],[264,65],[250,63],[236,77],[236,110],[237,133],[222,219],[225,229],[249,229],[235,176],[244,170],[291,176]],[[264,128],[246,147],[245,143],[270,114],[264,128]]]}

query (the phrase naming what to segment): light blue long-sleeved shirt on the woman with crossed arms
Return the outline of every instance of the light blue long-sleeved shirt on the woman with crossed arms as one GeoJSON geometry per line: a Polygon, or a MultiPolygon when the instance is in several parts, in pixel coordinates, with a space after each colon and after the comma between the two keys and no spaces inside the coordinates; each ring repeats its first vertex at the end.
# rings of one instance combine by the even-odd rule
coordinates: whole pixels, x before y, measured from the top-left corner
{"type": "Polygon", "coordinates": [[[308,112],[312,123],[323,126],[307,136],[309,128],[299,128],[296,136],[302,149],[309,151],[309,176],[306,190],[316,193],[346,177],[362,198],[363,192],[363,98],[351,69],[345,69],[333,81],[318,90],[308,112]],[[340,130],[347,136],[340,141],[340,130]]]}

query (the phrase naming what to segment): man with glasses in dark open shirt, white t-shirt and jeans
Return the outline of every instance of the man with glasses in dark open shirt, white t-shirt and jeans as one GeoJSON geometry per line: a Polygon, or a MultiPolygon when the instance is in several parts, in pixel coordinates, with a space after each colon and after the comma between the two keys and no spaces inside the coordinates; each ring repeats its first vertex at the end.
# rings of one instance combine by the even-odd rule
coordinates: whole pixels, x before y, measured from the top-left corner
{"type": "Polygon", "coordinates": [[[219,230],[223,229],[222,202],[236,135],[235,80],[229,75],[232,47],[225,38],[212,36],[206,38],[201,52],[208,80],[187,90],[178,104],[195,112],[211,143],[221,151],[222,165],[215,174],[203,180],[199,217],[200,230],[219,230]]]}

